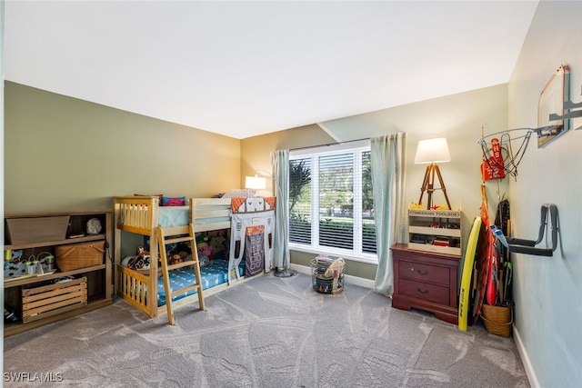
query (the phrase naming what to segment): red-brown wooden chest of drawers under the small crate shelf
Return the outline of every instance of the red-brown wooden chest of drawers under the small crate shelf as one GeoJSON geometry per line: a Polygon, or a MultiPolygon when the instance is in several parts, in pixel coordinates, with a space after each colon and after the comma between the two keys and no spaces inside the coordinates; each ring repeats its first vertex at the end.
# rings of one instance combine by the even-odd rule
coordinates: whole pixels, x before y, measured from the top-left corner
{"type": "Polygon", "coordinates": [[[394,294],[392,306],[416,308],[448,323],[458,323],[457,268],[460,256],[392,246],[394,294]]]}

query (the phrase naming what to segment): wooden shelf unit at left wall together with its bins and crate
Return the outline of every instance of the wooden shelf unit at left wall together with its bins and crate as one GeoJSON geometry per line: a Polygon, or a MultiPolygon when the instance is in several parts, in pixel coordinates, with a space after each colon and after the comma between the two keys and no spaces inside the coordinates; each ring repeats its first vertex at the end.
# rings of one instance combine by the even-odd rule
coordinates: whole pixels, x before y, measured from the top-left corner
{"type": "MultiPolygon", "coordinates": [[[[4,305],[15,317],[7,322],[5,316],[5,337],[112,303],[108,254],[112,214],[111,210],[5,214],[4,305]],[[105,247],[103,261],[69,271],[58,268],[59,247],[87,244],[105,247]],[[46,261],[49,256],[53,256],[52,270],[46,261]],[[39,259],[45,264],[43,271],[29,274],[25,264],[39,259]],[[55,283],[67,277],[70,280],[55,283]]],[[[82,263],[83,257],[77,255],[75,260],[82,263]]]]}

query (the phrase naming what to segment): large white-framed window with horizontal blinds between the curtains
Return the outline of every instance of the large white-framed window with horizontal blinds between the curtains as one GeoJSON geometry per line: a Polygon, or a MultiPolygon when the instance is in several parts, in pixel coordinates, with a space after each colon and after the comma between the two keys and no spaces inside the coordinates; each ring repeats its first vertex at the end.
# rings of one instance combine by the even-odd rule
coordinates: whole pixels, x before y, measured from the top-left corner
{"type": "Polygon", "coordinates": [[[376,262],[369,144],[289,155],[289,245],[376,262]]]}

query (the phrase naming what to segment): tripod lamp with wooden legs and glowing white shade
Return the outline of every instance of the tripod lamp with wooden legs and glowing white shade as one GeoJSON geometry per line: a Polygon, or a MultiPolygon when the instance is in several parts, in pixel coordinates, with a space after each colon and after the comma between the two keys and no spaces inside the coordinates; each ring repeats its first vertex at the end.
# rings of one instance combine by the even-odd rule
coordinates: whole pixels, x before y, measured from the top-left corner
{"type": "Polygon", "coordinates": [[[425,178],[420,188],[420,199],[418,204],[422,204],[422,197],[425,192],[428,196],[426,201],[426,209],[433,207],[433,193],[435,190],[442,190],[447,200],[448,209],[451,210],[451,204],[448,201],[447,188],[443,182],[443,176],[440,174],[440,169],[437,163],[445,163],[451,161],[451,155],[448,152],[447,139],[440,137],[437,139],[426,139],[418,142],[416,147],[415,164],[427,164],[425,178]],[[439,188],[435,188],[435,175],[437,175],[439,188]]]}

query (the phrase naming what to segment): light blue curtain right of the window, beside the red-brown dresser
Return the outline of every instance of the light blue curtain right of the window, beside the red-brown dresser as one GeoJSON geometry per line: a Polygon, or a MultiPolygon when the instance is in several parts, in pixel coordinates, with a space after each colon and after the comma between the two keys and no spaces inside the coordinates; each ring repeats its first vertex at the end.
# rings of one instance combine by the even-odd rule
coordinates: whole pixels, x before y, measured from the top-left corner
{"type": "Polygon", "coordinates": [[[404,243],[406,133],[370,139],[378,269],[374,291],[394,292],[390,246],[404,243]]]}

